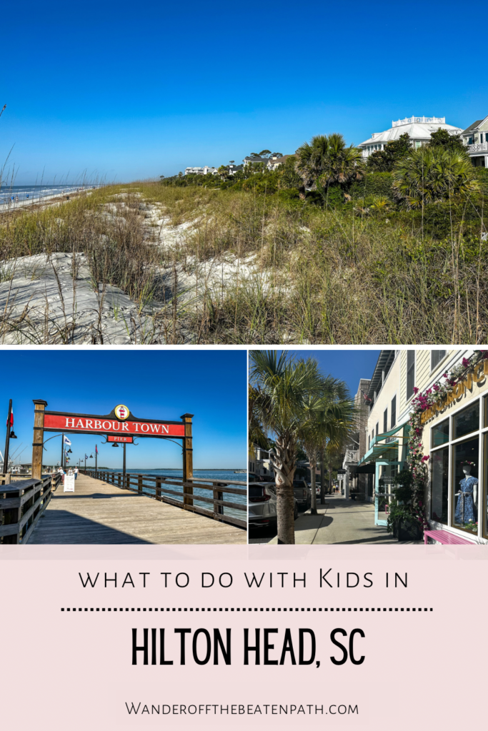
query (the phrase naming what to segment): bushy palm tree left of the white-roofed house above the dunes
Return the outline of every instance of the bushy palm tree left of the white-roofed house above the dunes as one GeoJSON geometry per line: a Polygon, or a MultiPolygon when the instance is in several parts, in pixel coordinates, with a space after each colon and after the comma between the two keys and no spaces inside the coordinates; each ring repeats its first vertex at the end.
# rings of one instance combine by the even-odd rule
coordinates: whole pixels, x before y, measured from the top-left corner
{"type": "Polygon", "coordinates": [[[317,135],[296,151],[297,171],[307,188],[327,189],[331,183],[345,185],[363,175],[361,151],[346,147],[342,135],[317,135]]]}

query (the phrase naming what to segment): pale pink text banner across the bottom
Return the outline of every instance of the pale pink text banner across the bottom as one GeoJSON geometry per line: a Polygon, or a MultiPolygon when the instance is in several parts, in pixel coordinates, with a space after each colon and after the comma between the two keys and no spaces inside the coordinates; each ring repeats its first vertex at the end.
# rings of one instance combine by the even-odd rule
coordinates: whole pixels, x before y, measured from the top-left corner
{"type": "MultiPolygon", "coordinates": [[[[460,728],[483,546],[4,546],[5,728],[460,728]]],[[[468,700],[470,699],[470,700],[468,700]]]]}

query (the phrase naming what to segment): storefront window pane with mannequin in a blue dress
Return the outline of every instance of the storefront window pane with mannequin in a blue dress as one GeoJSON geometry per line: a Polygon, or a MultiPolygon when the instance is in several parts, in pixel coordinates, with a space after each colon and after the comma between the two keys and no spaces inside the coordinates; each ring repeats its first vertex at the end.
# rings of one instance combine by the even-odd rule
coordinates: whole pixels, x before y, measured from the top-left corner
{"type": "Polygon", "coordinates": [[[453,523],[456,528],[462,528],[475,534],[478,533],[478,454],[479,439],[477,436],[461,442],[461,444],[454,444],[453,523]]]}

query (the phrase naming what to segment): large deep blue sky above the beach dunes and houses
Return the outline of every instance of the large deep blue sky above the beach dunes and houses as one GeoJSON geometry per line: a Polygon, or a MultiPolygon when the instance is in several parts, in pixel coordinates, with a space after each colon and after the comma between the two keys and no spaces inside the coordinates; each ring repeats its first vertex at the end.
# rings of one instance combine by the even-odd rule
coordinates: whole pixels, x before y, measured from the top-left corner
{"type": "Polygon", "coordinates": [[[488,113],[484,44],[468,70],[461,43],[476,15],[452,0],[10,2],[0,161],[15,145],[18,184],[129,181],[317,134],[359,143],[410,115],[464,128],[488,113]]]}

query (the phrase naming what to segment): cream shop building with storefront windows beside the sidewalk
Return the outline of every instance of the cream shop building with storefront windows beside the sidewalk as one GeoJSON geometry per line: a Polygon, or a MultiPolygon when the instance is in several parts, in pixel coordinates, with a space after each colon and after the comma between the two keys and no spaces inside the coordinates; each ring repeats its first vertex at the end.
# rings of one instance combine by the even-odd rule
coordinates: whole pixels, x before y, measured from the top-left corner
{"type": "MultiPolygon", "coordinates": [[[[369,448],[357,468],[368,475],[377,525],[386,525],[394,477],[408,456],[413,400],[446,384],[446,374],[472,355],[459,349],[381,351],[368,391],[369,448]]],[[[426,412],[422,425],[429,469],[425,514],[432,529],[487,542],[488,360],[468,372],[453,393],[442,409],[426,412]]]]}

